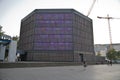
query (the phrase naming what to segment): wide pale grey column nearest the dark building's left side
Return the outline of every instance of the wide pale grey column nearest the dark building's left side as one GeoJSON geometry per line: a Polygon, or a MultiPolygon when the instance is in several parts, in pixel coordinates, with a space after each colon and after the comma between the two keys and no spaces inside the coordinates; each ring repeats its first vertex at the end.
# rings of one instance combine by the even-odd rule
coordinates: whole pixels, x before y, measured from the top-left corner
{"type": "Polygon", "coordinates": [[[17,41],[11,41],[9,44],[8,62],[16,60],[17,41]]]}

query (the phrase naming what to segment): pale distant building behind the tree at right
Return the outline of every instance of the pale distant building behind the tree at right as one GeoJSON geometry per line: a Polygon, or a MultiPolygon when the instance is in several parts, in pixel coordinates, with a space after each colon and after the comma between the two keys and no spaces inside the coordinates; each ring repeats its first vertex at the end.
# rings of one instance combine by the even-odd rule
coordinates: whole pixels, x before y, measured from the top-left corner
{"type": "MultiPolygon", "coordinates": [[[[116,51],[120,51],[120,43],[112,44],[113,49],[116,51]]],[[[110,44],[95,44],[95,54],[101,54],[101,56],[106,57],[106,53],[108,52],[110,48],[110,44]]]]}

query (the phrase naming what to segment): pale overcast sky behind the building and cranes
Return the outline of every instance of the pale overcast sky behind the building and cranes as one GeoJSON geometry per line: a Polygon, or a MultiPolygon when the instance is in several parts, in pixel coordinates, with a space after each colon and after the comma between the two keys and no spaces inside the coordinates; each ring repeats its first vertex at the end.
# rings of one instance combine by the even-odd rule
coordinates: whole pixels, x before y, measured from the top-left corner
{"type": "MultiPolygon", "coordinates": [[[[93,0],[0,0],[0,25],[10,36],[19,36],[21,19],[34,9],[73,8],[87,15],[93,0]]],[[[97,16],[120,18],[120,0],[96,0],[89,15],[93,19],[94,43],[110,43],[108,22],[97,16]]],[[[110,20],[112,42],[120,43],[120,19],[110,20]]]]}

